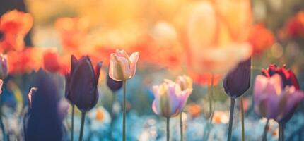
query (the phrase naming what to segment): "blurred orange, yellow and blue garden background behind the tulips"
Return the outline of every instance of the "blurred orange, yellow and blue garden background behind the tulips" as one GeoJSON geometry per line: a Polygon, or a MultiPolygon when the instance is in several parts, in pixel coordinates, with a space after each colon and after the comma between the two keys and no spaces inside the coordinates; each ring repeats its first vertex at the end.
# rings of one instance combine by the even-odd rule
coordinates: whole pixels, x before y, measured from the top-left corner
{"type": "MultiPolygon", "coordinates": [[[[13,139],[22,139],[19,115],[28,104],[35,71],[42,67],[52,73],[59,95],[64,97],[62,74],[69,71],[71,54],[77,58],[88,55],[94,64],[103,61],[100,98],[86,119],[86,140],[110,140],[111,124],[112,137],[121,140],[122,90],[112,92],[106,84],[110,53],[115,49],[140,52],[136,75],[127,83],[127,140],[165,140],[165,118],[151,109],[151,87],[164,78],[174,80],[185,74],[194,80],[194,91],[183,112],[187,140],[226,140],[229,98],[223,90],[223,77],[249,56],[252,83],[269,64],[286,64],[304,89],[302,0],[0,0],[1,15],[13,9],[33,16],[24,47],[3,51],[8,54],[9,76],[4,80],[1,111],[13,139]],[[243,43],[249,45],[243,47],[243,43]],[[210,101],[211,91],[214,97],[210,101]],[[115,118],[111,119],[113,97],[115,118]],[[210,102],[211,122],[207,117],[210,102]]],[[[240,140],[238,101],[236,105],[233,140],[240,140]]],[[[302,102],[286,124],[286,140],[303,140],[303,108],[302,102]]],[[[78,111],[74,138],[80,118],[78,111]]],[[[67,133],[69,119],[70,111],[64,120],[67,133]]],[[[251,86],[245,93],[247,140],[260,140],[265,123],[253,110],[251,86]]],[[[268,140],[278,139],[278,127],[269,123],[268,140]]],[[[179,134],[178,118],[171,128],[179,134]]],[[[179,135],[173,135],[173,140],[179,140],[179,135]]]]}

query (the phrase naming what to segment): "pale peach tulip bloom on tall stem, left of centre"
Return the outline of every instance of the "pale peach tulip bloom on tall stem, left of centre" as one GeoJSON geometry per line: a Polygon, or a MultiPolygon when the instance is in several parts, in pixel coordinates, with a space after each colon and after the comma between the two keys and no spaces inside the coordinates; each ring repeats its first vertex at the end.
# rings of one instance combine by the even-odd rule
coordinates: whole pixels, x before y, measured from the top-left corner
{"type": "Polygon", "coordinates": [[[110,56],[110,78],[116,81],[124,81],[132,78],[136,72],[136,63],[139,60],[139,52],[129,56],[126,51],[117,49],[110,56]]]}

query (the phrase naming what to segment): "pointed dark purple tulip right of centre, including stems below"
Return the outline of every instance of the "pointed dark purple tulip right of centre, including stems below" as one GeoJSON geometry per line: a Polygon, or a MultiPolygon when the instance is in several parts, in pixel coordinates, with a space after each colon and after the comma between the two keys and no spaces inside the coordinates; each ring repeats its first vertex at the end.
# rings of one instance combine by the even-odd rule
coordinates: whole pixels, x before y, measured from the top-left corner
{"type": "MultiPolygon", "coordinates": [[[[236,68],[230,71],[223,80],[223,87],[226,94],[231,98],[230,105],[230,119],[228,127],[228,140],[231,139],[232,124],[233,124],[233,111],[235,99],[244,94],[250,87],[250,69],[251,59],[242,61],[236,68]]],[[[242,141],[245,140],[245,129],[244,129],[244,109],[241,98],[241,115],[242,115],[242,141]]]]}

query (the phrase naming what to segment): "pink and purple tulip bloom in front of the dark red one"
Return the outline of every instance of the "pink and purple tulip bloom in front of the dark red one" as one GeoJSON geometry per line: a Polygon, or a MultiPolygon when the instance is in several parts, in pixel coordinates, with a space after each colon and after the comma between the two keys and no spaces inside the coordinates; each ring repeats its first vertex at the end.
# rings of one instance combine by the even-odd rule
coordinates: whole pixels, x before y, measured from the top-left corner
{"type": "Polygon", "coordinates": [[[304,93],[296,90],[293,85],[283,87],[281,76],[278,74],[269,78],[257,75],[253,94],[255,112],[279,123],[292,116],[293,109],[304,98],[304,93]]]}

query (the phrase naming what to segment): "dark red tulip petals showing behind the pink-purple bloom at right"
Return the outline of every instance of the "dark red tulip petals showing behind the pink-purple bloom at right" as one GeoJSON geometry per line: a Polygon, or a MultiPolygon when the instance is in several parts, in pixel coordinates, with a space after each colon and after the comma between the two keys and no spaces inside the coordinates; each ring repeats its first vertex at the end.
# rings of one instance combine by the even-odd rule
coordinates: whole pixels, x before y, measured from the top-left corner
{"type": "Polygon", "coordinates": [[[293,73],[293,71],[286,70],[286,65],[283,65],[282,68],[279,68],[275,64],[270,64],[266,70],[262,69],[262,74],[267,77],[270,77],[274,74],[279,74],[281,75],[283,81],[283,87],[285,87],[286,85],[293,85],[296,90],[300,89],[296,75],[293,73]]]}

